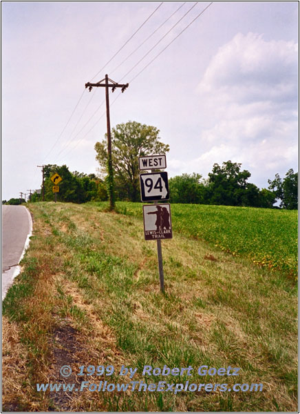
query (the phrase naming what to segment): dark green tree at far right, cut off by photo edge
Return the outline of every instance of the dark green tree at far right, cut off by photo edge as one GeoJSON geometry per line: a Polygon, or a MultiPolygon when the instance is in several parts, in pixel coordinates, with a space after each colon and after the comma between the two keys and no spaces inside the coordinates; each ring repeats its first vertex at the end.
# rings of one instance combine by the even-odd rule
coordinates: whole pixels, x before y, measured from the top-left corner
{"type": "Polygon", "coordinates": [[[288,210],[298,209],[298,172],[292,168],[281,179],[275,174],[275,179],[268,179],[269,189],[272,190],[277,200],[280,200],[280,207],[288,210]]]}

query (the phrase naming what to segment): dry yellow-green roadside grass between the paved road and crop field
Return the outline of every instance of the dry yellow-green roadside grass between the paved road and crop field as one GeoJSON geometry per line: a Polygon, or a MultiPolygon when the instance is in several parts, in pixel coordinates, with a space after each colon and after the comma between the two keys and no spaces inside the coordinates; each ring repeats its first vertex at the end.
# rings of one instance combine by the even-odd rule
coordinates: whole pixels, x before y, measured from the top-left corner
{"type": "MultiPolygon", "coordinates": [[[[144,241],[141,204],[118,204],[118,211],[126,214],[107,213],[106,207],[107,204],[30,205],[34,215],[30,249],[23,259],[22,273],[3,302],[6,330],[14,329],[14,337],[19,337],[19,348],[14,341],[19,362],[10,356],[3,366],[3,383],[10,384],[14,378],[19,384],[18,393],[4,387],[4,408],[297,410],[297,284],[294,278],[287,277],[290,268],[257,266],[246,250],[229,255],[226,250],[230,249],[215,246],[215,239],[198,237],[193,222],[199,232],[203,222],[200,217],[213,206],[197,206],[203,214],[193,211],[184,225],[184,218],[176,214],[180,215],[185,207],[195,208],[174,205],[173,239],[162,242],[166,287],[162,295],[156,243],[144,241]],[[196,232],[194,237],[192,231],[196,232]],[[13,369],[18,364],[25,366],[22,375],[13,369]],[[36,393],[36,383],[61,380],[58,373],[64,364],[72,366],[74,373],[82,365],[113,365],[116,374],[110,381],[115,383],[130,381],[128,375],[117,375],[125,365],[138,368],[134,380],[149,384],[189,380],[195,384],[226,382],[233,386],[237,382],[264,384],[264,390],[187,391],[177,395],[87,391],[65,398],[61,394],[36,393]],[[144,365],[192,366],[193,372],[190,377],[142,377],[144,365]],[[237,366],[241,371],[238,377],[200,377],[197,368],[202,365],[237,366]]],[[[215,210],[219,220],[221,210],[215,210]]],[[[224,210],[224,221],[244,211],[224,210]]],[[[260,209],[251,209],[248,215],[252,215],[254,223],[259,217],[267,217],[260,209]]],[[[243,217],[239,216],[239,223],[243,217]]],[[[287,220],[282,224],[292,215],[280,217],[287,220]]],[[[267,231],[264,226],[269,224],[260,223],[262,237],[267,231]]],[[[227,223],[223,226],[226,228],[227,223]]],[[[246,223],[243,228],[247,226],[246,223]]],[[[241,229],[239,233],[243,233],[241,229]]],[[[222,233],[217,232],[215,237],[222,239],[222,233]]],[[[242,239],[243,234],[234,233],[232,227],[231,237],[242,239]]],[[[266,250],[270,243],[264,246],[266,250]]],[[[9,353],[13,355],[14,349],[9,353]]],[[[96,384],[106,379],[83,377],[96,384]]]]}

